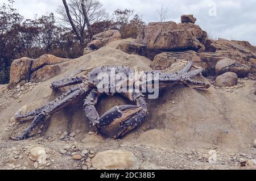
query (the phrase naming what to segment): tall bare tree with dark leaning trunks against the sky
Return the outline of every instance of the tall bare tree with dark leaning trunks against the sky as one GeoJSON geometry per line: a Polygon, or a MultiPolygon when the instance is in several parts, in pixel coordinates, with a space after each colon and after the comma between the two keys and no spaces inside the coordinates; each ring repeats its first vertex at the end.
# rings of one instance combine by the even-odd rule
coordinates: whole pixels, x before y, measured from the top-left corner
{"type": "Polygon", "coordinates": [[[108,14],[98,0],[69,0],[69,3],[63,0],[63,5],[57,10],[61,16],[60,20],[71,25],[83,48],[85,38],[90,40],[92,37],[91,24],[105,20],[108,14]]]}

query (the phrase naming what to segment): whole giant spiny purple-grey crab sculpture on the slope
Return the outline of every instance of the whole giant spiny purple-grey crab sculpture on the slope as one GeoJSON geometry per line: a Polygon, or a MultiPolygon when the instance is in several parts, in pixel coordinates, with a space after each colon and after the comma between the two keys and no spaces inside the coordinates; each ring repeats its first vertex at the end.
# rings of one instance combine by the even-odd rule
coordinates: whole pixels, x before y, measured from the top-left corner
{"type": "MultiPolygon", "coordinates": [[[[159,88],[169,87],[177,84],[184,84],[188,86],[194,86],[196,89],[208,89],[210,87],[209,83],[195,81],[192,79],[196,75],[201,74],[203,69],[198,68],[196,70],[189,71],[192,67],[192,62],[188,62],[184,69],[177,71],[176,73],[163,73],[161,71],[144,71],[144,75],[147,79],[142,78],[130,78],[129,74],[134,73],[134,69],[126,66],[101,66],[97,68],[87,69],[87,74],[77,77],[79,71],[75,75],[69,75],[61,79],[60,81],[53,82],[51,84],[52,90],[60,89],[61,87],[71,87],[71,89],[65,92],[63,95],[59,96],[55,100],[48,102],[46,105],[32,110],[30,112],[22,115],[20,112],[15,114],[15,118],[19,121],[26,120],[28,117],[34,119],[31,126],[27,131],[20,137],[11,137],[12,140],[24,140],[29,137],[32,130],[42,121],[46,120],[48,117],[52,116],[57,111],[60,111],[64,107],[73,103],[75,100],[82,99],[86,95],[84,100],[84,112],[90,124],[96,128],[98,133],[104,134],[105,136],[112,138],[121,138],[125,136],[128,132],[137,128],[143,123],[147,115],[147,103],[144,99],[142,91],[135,91],[134,88],[130,87],[143,87],[143,85],[153,85],[158,82],[159,88]],[[111,80],[111,76],[121,73],[126,78],[119,78],[111,80]],[[99,75],[104,73],[109,75],[110,79],[105,81],[105,86],[99,86],[102,82],[102,77],[99,75]],[[112,75],[111,75],[112,74],[112,75]],[[152,75],[158,75],[152,76],[152,75]],[[130,91],[127,90],[128,88],[130,91]],[[102,91],[104,87],[104,91],[102,91]],[[101,95],[107,94],[113,96],[114,94],[121,94],[129,100],[136,102],[137,105],[124,105],[115,106],[110,109],[104,115],[99,116],[95,108],[98,99],[101,95]]],[[[84,70],[85,71],[85,70],[84,70]]]]}

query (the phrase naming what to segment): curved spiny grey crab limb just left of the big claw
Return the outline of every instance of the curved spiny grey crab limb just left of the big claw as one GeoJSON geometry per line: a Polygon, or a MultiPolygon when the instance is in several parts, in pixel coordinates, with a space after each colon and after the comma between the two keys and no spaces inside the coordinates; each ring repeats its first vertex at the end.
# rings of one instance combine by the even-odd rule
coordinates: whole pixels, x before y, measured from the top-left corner
{"type": "Polygon", "coordinates": [[[90,91],[90,94],[86,97],[84,102],[84,111],[86,117],[90,120],[90,124],[93,125],[93,127],[98,124],[99,115],[96,111],[95,105],[98,102],[98,98],[101,96],[100,92],[98,92],[96,89],[90,91]]]}

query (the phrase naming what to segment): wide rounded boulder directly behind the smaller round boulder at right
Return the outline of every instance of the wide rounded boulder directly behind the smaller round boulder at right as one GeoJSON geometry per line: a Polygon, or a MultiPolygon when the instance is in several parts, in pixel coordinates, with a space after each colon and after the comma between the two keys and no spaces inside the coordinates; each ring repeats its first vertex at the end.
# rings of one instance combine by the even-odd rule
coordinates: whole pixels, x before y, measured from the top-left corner
{"type": "Polygon", "coordinates": [[[238,77],[246,77],[250,73],[249,66],[241,64],[240,62],[237,62],[236,60],[232,60],[229,58],[220,60],[216,64],[215,70],[218,75],[230,71],[236,73],[238,77]]]}

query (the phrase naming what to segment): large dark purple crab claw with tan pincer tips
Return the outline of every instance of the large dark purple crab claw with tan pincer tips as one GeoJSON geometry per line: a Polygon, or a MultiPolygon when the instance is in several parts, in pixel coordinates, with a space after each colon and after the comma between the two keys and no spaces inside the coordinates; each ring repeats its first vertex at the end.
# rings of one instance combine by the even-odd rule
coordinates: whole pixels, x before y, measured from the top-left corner
{"type": "Polygon", "coordinates": [[[115,106],[100,117],[96,128],[106,136],[117,138],[120,135],[120,128],[125,121],[129,120],[141,110],[142,108],[139,106],[115,106]]]}

